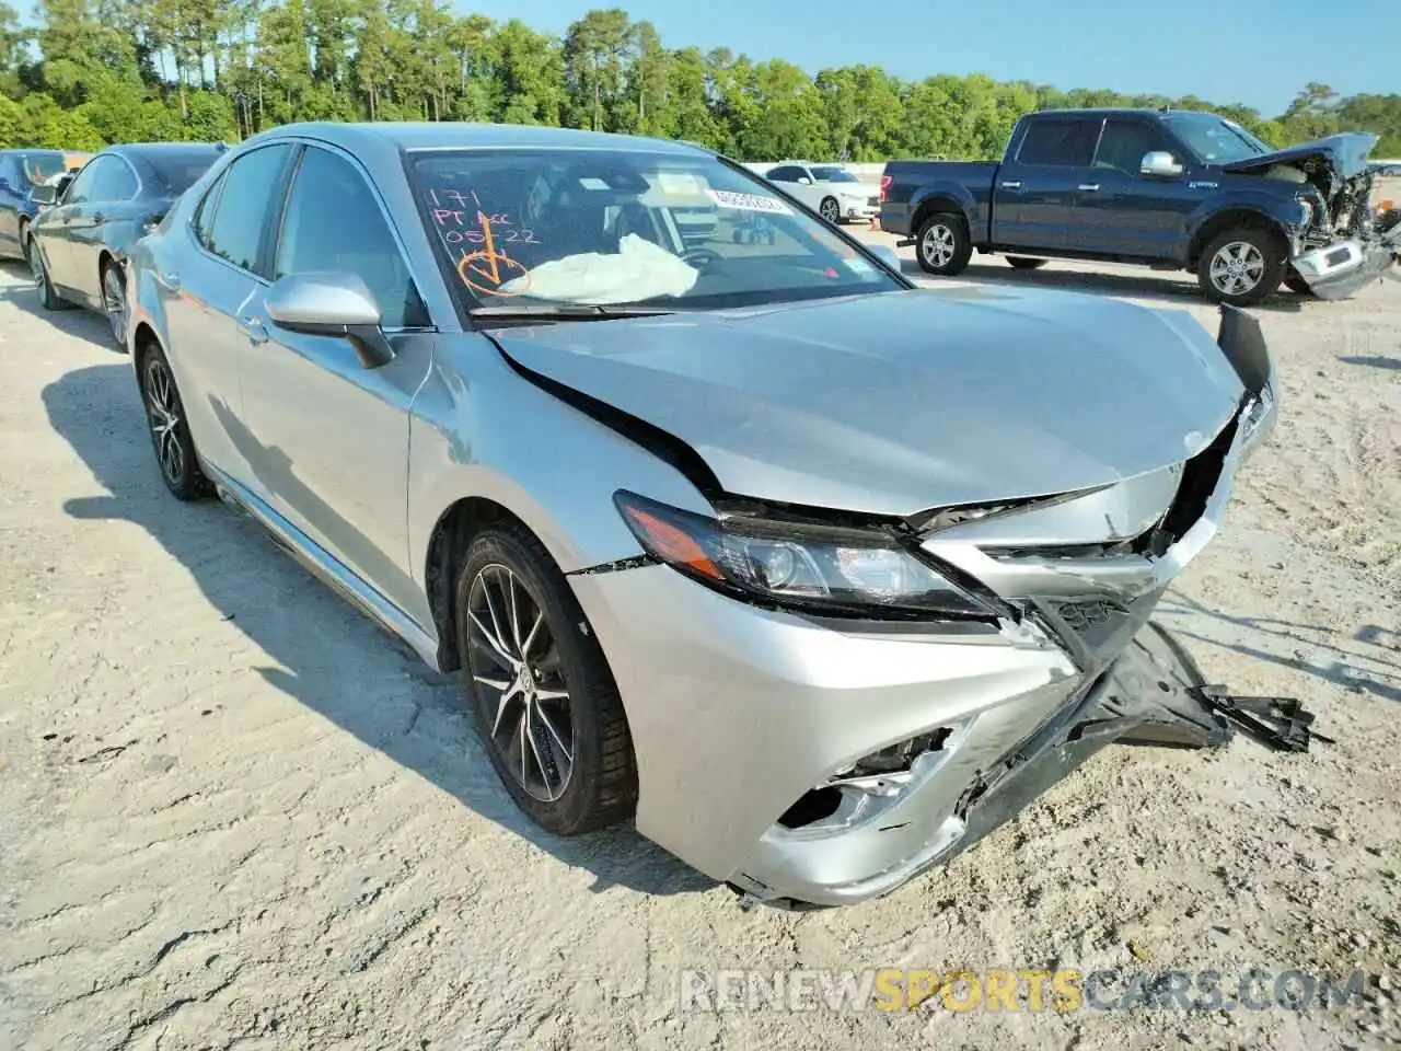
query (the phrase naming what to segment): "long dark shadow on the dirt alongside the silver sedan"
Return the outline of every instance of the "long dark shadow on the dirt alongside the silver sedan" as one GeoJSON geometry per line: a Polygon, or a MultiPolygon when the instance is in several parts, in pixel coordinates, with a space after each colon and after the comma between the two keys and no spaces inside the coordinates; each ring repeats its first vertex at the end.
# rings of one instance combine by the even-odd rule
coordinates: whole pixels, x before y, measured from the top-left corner
{"type": "MultiPolygon", "coordinates": [[[[32,291],[25,308],[38,310],[32,291]]],[[[74,334],[87,335],[85,321],[70,324],[81,325],[74,334]]],[[[94,315],[91,328],[101,334],[102,320],[94,315]]],[[[165,492],[125,363],[69,373],[45,388],[43,404],[55,430],[111,493],[73,499],[67,513],[146,530],[191,572],[223,618],[268,654],[270,667],[261,674],[277,689],[474,811],[591,872],[595,891],[619,884],[649,894],[715,887],[630,827],[565,839],[531,824],[476,743],[455,677],[430,671],[406,646],[331,597],[252,521],[217,500],[181,504],[165,492]],[[356,653],[356,677],[343,667],[347,652],[356,653]],[[387,712],[373,688],[395,677],[402,684],[405,675],[416,680],[409,717],[402,705],[387,712]]]]}

